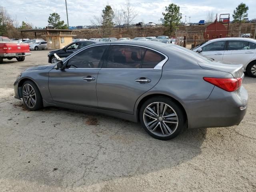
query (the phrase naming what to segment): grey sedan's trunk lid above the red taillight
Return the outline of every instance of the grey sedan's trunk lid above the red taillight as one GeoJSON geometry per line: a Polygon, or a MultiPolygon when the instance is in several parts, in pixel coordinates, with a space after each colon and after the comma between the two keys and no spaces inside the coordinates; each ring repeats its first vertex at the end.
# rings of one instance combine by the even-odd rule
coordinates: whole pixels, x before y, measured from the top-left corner
{"type": "Polygon", "coordinates": [[[243,65],[242,64],[231,64],[229,62],[208,62],[208,63],[198,63],[201,68],[228,72],[234,76],[234,78],[240,78],[243,76],[243,65]]]}

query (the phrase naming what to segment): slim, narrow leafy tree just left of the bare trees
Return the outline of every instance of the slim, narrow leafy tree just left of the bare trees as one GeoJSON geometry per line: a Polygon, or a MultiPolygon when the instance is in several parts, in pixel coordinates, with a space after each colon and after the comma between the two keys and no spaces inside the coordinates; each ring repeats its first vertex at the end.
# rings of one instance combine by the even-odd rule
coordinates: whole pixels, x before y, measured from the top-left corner
{"type": "Polygon", "coordinates": [[[102,29],[103,36],[110,35],[111,29],[114,26],[114,11],[111,6],[107,5],[104,10],[102,10],[102,29]]]}

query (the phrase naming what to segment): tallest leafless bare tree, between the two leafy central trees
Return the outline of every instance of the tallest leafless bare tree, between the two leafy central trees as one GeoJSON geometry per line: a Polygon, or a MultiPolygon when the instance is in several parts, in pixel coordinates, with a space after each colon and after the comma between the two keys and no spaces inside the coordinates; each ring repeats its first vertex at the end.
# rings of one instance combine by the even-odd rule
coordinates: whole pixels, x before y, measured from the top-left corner
{"type": "Polygon", "coordinates": [[[127,31],[129,30],[129,25],[134,21],[138,12],[131,6],[130,0],[126,0],[126,4],[122,7],[122,12],[124,14],[124,20],[127,25],[127,31]]]}

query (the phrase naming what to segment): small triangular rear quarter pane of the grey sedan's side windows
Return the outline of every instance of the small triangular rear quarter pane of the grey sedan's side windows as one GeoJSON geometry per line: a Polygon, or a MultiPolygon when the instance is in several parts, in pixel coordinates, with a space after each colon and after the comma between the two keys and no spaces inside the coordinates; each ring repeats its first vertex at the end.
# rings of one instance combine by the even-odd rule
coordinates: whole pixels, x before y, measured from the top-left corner
{"type": "Polygon", "coordinates": [[[147,50],[144,56],[141,68],[154,68],[159,62],[164,60],[165,57],[152,50],[147,50]]]}

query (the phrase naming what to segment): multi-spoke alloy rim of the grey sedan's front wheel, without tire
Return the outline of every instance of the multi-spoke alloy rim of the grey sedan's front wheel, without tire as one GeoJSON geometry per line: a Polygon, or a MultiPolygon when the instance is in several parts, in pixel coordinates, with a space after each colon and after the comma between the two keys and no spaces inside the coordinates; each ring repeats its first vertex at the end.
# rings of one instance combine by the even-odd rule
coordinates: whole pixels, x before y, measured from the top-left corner
{"type": "Polygon", "coordinates": [[[25,104],[29,108],[33,108],[36,105],[36,93],[30,84],[25,84],[22,89],[22,95],[25,104]]]}

